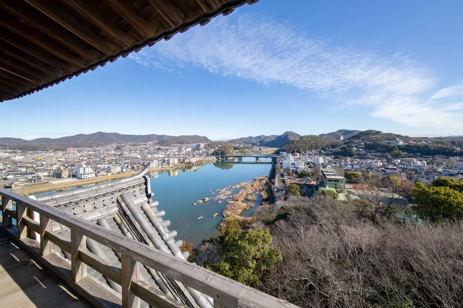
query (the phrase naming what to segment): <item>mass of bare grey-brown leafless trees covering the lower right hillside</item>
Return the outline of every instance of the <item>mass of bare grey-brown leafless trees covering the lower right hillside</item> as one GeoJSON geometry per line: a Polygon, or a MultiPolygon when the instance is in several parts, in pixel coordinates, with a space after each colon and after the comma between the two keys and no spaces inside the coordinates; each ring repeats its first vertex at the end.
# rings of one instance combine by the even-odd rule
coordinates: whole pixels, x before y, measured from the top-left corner
{"type": "MultiPolygon", "coordinates": [[[[324,196],[259,210],[283,262],[261,290],[301,307],[463,306],[463,223],[372,224],[324,196]],[[285,217],[285,216],[282,216],[285,217]]],[[[260,220],[260,221],[259,221],[260,220]]]]}

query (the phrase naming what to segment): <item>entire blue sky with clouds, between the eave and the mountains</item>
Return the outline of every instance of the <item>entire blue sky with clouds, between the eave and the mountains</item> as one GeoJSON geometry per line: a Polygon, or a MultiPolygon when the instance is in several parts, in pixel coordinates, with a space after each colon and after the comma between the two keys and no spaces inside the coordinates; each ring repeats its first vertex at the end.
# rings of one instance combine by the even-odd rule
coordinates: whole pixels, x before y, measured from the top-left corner
{"type": "Polygon", "coordinates": [[[0,137],[463,134],[461,12],[459,0],[261,0],[1,103],[0,137]]]}

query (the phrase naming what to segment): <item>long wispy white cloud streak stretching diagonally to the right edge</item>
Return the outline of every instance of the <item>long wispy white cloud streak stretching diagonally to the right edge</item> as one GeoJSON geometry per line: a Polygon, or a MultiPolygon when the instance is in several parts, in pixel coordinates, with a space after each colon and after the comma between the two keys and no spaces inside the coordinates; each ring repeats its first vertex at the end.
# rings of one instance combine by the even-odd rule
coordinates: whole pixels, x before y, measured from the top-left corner
{"type": "Polygon", "coordinates": [[[334,46],[269,18],[216,18],[131,57],[159,69],[192,64],[264,85],[292,85],[337,106],[362,105],[374,117],[410,126],[461,129],[463,85],[438,90],[438,79],[403,54],[384,57],[334,46]],[[457,103],[443,105],[441,99],[449,97],[457,103]]]}

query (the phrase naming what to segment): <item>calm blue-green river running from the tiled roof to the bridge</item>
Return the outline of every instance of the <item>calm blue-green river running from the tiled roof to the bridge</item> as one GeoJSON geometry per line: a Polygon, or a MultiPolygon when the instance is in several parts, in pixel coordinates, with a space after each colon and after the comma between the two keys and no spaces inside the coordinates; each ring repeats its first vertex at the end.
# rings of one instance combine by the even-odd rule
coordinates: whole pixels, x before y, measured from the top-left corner
{"type": "MultiPolygon", "coordinates": [[[[166,211],[164,220],[170,220],[169,229],[177,231],[176,239],[197,246],[203,239],[219,234],[217,227],[223,220],[221,214],[227,202],[223,200],[219,203],[219,200],[211,199],[197,206],[192,204],[205,197],[217,196],[217,189],[253,180],[256,177],[268,176],[272,166],[271,161],[271,159],[261,159],[261,162],[267,164],[255,163],[255,158],[243,158],[243,163],[216,162],[199,168],[152,172],[150,177],[151,191],[154,192],[153,200],[159,201],[159,210],[166,211]],[[211,194],[210,190],[216,194],[211,194]],[[215,213],[220,215],[212,217],[215,213]],[[201,216],[203,218],[198,219],[201,216]]],[[[68,189],[74,188],[76,187],[68,189]]],[[[239,190],[240,188],[233,189],[233,194],[239,190]]],[[[44,194],[50,193],[51,191],[44,194]]],[[[254,202],[256,205],[244,211],[241,216],[252,216],[259,207],[260,201],[259,194],[254,202]]]]}

